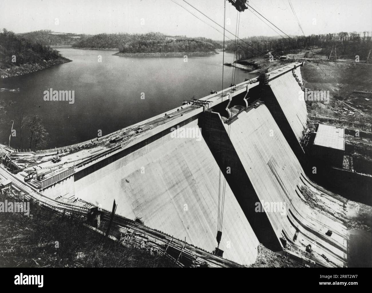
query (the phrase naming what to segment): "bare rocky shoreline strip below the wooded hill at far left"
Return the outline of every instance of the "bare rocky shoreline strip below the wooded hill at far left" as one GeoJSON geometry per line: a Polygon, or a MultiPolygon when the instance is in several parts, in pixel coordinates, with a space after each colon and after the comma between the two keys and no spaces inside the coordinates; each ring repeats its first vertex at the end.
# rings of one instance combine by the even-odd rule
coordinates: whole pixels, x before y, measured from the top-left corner
{"type": "Polygon", "coordinates": [[[58,59],[43,61],[40,63],[33,64],[26,63],[20,66],[12,66],[10,68],[0,69],[0,78],[14,77],[23,74],[33,73],[35,71],[43,70],[53,65],[63,64],[71,61],[72,60],[70,59],[60,57],[58,59]]]}

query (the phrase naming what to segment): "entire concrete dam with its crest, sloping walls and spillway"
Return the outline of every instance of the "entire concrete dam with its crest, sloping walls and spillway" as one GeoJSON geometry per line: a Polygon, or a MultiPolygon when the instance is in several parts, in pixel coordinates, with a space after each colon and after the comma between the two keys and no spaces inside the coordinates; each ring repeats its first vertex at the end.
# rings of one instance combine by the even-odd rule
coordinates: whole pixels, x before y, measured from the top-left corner
{"type": "Polygon", "coordinates": [[[343,203],[304,171],[302,65],[232,84],[91,141],[14,150],[3,164],[48,198],[106,210],[115,199],[116,214],[210,252],[224,186],[224,258],[252,264],[262,243],[319,266],[344,267],[343,203]]]}

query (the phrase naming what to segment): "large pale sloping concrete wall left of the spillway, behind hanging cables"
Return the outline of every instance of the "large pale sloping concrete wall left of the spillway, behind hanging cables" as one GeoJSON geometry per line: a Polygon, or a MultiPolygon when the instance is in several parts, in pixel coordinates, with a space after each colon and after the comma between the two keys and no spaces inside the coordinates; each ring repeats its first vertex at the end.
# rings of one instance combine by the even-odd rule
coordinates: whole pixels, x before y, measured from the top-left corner
{"type": "MultiPolygon", "coordinates": [[[[180,126],[198,128],[198,117],[180,126]]],[[[115,199],[119,215],[139,217],[147,226],[212,251],[217,246],[219,168],[204,138],[171,138],[168,129],[128,152],[76,174],[76,196],[105,209],[115,199]]],[[[253,263],[258,243],[227,184],[224,257],[253,263]]]]}

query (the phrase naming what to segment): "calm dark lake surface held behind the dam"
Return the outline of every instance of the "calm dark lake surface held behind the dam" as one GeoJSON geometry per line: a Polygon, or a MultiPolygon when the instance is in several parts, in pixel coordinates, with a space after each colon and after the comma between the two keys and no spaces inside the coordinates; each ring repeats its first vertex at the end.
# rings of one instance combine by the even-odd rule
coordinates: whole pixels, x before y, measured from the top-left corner
{"type": "MultiPolygon", "coordinates": [[[[222,89],[222,52],[207,57],[134,58],[112,56],[114,51],[58,49],[73,62],[45,70],[0,80],[0,88],[20,88],[19,93],[0,92],[0,99],[16,102],[8,111],[9,120],[38,114],[49,132],[44,148],[86,141],[148,119],[182,105],[182,101],[201,98],[211,90],[222,89]],[[102,62],[98,62],[98,56],[102,62]],[[44,91],[71,90],[74,104],[68,101],[44,101],[44,91]],[[145,99],[141,99],[144,93],[145,99]]],[[[225,54],[224,62],[232,62],[225,54]]],[[[236,70],[235,83],[252,78],[236,70]]],[[[224,88],[232,80],[232,67],[224,67],[224,88]]],[[[0,141],[7,145],[9,130],[2,129],[0,141]]],[[[15,125],[18,133],[18,127],[15,125]]],[[[25,128],[26,129],[26,128],[25,128]]],[[[23,138],[25,141],[25,138],[23,138]]],[[[11,146],[20,148],[19,135],[11,146]]],[[[23,144],[23,148],[28,147],[23,144]]]]}

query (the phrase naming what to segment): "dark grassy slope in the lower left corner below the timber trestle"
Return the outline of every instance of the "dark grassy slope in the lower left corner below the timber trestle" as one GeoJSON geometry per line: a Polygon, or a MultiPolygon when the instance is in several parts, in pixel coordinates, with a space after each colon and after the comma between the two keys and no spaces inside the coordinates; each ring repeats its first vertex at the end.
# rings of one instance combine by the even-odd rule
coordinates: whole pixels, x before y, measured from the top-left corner
{"type": "MultiPolygon", "coordinates": [[[[0,194],[0,202],[20,202],[0,194]]],[[[84,225],[30,202],[30,215],[0,213],[0,267],[176,267],[162,255],[125,247],[84,225]],[[58,241],[58,242],[56,242],[58,241]],[[58,244],[58,245],[57,245],[58,244]]]]}

